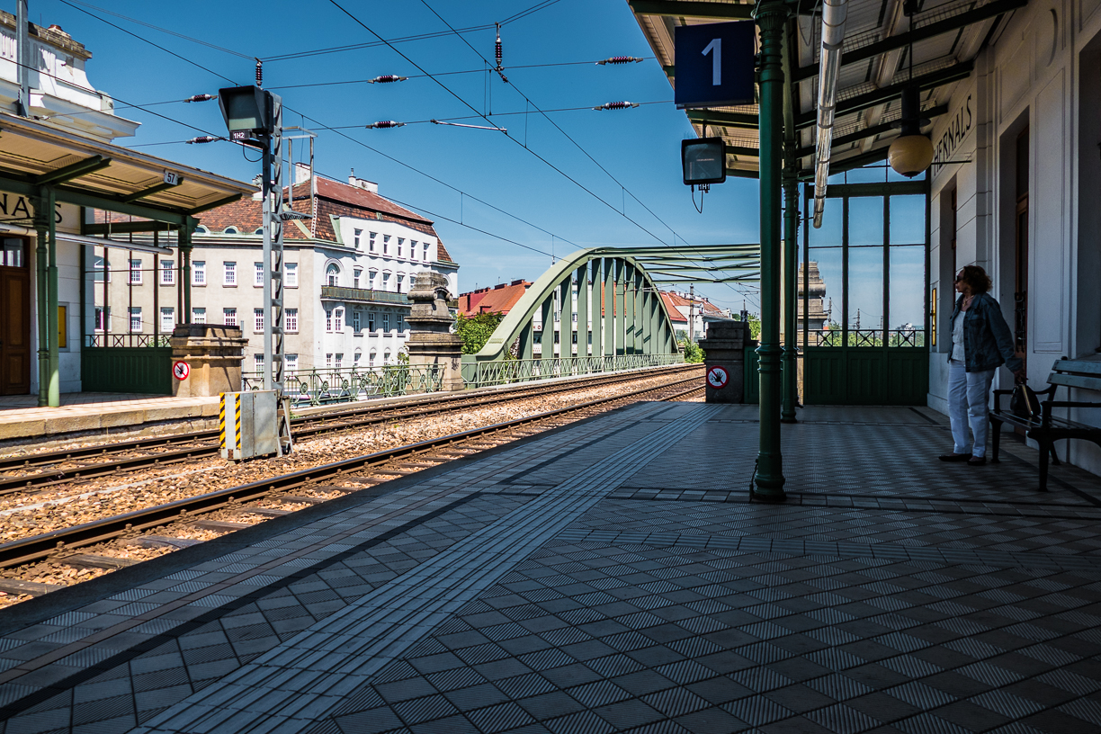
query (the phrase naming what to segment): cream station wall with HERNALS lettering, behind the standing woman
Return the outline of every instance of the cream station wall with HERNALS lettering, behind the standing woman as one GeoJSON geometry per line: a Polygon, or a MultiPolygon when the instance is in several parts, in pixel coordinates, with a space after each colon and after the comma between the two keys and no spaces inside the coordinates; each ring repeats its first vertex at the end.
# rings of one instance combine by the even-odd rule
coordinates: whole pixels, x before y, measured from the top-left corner
{"type": "MultiPolygon", "coordinates": [[[[1101,0],[1016,10],[930,138],[928,404],[947,413],[952,281],[963,265],[991,275],[1034,388],[1062,357],[1101,360],[1101,0]]],[[[1005,370],[998,380],[1012,384],[1005,370]]],[[[1060,387],[1058,399],[1099,396],[1060,387]]],[[[1068,417],[1101,426],[1101,409],[1068,417]]],[[[1092,443],[1058,451],[1101,473],[1092,443]]]]}

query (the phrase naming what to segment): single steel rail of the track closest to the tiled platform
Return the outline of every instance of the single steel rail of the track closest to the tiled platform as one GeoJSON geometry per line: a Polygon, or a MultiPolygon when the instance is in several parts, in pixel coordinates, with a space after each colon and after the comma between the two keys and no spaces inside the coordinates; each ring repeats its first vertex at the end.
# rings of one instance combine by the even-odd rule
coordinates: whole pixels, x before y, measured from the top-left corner
{"type": "MultiPolygon", "coordinates": [[[[349,471],[378,467],[380,464],[394,461],[395,459],[428,453],[434,449],[454,446],[462,441],[469,441],[470,439],[481,438],[493,434],[501,434],[521,426],[549,420],[570,413],[577,413],[579,410],[586,410],[608,403],[614,403],[617,401],[636,398],[647,393],[666,391],[675,388],[687,382],[697,381],[698,377],[694,376],[676,383],[644,387],[621,395],[601,397],[595,401],[580,403],[578,405],[556,408],[554,410],[547,410],[545,413],[523,418],[515,418],[513,420],[506,420],[491,426],[472,428],[458,434],[449,434],[439,438],[418,441],[416,443],[408,443],[394,449],[377,451],[374,453],[353,457],[351,459],[342,459],[340,461],[323,464],[320,467],[314,467],[312,469],[301,469],[288,474],[281,474],[279,476],[259,480],[249,484],[216,490],[198,496],[176,500],[175,502],[157,505],[155,507],[137,510],[123,515],[106,517],[90,523],[83,523],[69,528],[62,528],[29,538],[12,540],[10,543],[0,544],[0,568],[12,568],[26,563],[33,563],[58,552],[75,548],[83,548],[108,540],[115,540],[124,535],[140,533],[161,525],[167,525],[170,523],[187,519],[195,515],[203,515],[218,510],[224,510],[226,507],[236,507],[242,501],[254,502],[275,492],[313,484],[318,480],[337,476],[349,471]]],[[[675,399],[690,393],[699,392],[704,390],[704,387],[705,385],[697,384],[686,390],[680,390],[673,395],[666,395],[659,399],[675,399]]],[[[446,463],[446,461],[440,463],[446,463]]]]}

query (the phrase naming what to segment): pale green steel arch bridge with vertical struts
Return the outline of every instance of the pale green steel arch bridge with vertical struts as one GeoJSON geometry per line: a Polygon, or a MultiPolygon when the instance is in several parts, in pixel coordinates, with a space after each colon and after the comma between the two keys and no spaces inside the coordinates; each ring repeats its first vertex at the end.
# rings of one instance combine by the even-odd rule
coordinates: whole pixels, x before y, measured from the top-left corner
{"type": "Polygon", "coordinates": [[[759,278],[757,244],[578,250],[535,281],[481,351],[464,355],[464,380],[492,385],[678,362],[661,286],[759,278]]]}

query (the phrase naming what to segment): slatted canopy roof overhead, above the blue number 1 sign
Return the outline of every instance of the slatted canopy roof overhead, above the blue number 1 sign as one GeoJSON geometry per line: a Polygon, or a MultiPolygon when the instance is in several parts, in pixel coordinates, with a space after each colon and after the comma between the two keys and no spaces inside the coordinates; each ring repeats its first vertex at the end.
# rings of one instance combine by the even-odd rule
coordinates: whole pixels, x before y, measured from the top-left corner
{"type": "MultiPolygon", "coordinates": [[[[676,86],[674,35],[677,25],[750,20],[752,2],[739,0],[628,0],[639,25],[676,86]]],[[[903,0],[848,0],[848,18],[838,76],[837,117],[830,171],[884,161],[898,131],[900,94],[909,79],[913,42],[914,80],[922,89],[923,117],[933,124],[947,114],[956,87],[974,68],[983,45],[1003,19],[1027,0],[918,0],[913,21],[903,0]],[[913,28],[911,28],[911,25],[913,28]]],[[[789,72],[785,119],[797,131],[800,178],[814,174],[818,58],[821,47],[820,0],[788,3],[793,21],[786,33],[785,67],[789,72]]],[[[757,42],[759,43],[759,42],[757,42]]],[[[756,177],[757,106],[688,110],[697,134],[721,135],[730,175],[756,177]]],[[[928,127],[923,129],[928,132],[928,127]]]]}

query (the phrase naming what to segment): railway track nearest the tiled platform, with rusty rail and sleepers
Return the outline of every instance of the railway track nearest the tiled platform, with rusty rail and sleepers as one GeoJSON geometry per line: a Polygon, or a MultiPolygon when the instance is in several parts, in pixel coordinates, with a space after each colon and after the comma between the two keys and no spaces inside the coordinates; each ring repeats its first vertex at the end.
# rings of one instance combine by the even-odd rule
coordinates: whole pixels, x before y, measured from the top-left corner
{"type": "MultiPolygon", "coordinates": [[[[292,511],[270,510],[253,506],[260,502],[279,501],[286,504],[312,505],[323,500],[310,493],[338,491],[349,493],[355,487],[321,485],[325,481],[345,481],[369,489],[399,475],[414,473],[422,469],[446,463],[456,458],[471,456],[533,434],[549,430],[573,423],[588,415],[617,407],[617,403],[640,399],[675,401],[704,391],[699,375],[674,383],[645,387],[621,395],[601,397],[578,405],[566,406],[514,420],[451,434],[430,440],[401,446],[385,451],[359,456],[320,467],[265,478],[239,486],[227,487],[194,497],[140,510],[123,515],[106,517],[69,528],[43,535],[22,538],[0,545],[0,568],[11,569],[43,560],[69,563],[77,568],[121,568],[134,561],[109,556],[88,556],[77,551],[105,543],[122,545],[144,545],[184,547],[194,540],[183,540],[171,536],[141,536],[154,528],[163,528],[177,523],[203,523],[203,515],[231,510],[247,515],[273,517],[292,511]]],[[[222,532],[247,527],[232,522],[212,522],[208,526],[222,532]]],[[[8,593],[43,593],[52,590],[44,584],[2,579],[3,591],[8,593]]]]}

